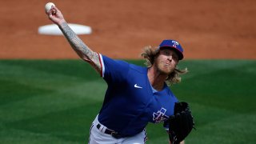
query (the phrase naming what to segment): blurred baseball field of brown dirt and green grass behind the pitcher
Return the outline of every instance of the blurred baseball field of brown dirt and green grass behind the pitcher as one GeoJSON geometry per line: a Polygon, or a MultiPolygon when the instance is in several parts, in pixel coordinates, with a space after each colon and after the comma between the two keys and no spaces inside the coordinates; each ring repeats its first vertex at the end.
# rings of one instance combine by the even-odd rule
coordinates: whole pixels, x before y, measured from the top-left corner
{"type": "MultiPolygon", "coordinates": [[[[78,59],[52,24],[44,0],[0,1],[0,143],[86,143],[106,83],[78,59]]],[[[176,39],[184,48],[182,82],[170,86],[190,103],[197,130],[186,143],[255,143],[256,1],[54,0],[79,35],[110,58],[143,66],[144,46],[176,39]]],[[[147,143],[168,143],[162,125],[147,143]]]]}

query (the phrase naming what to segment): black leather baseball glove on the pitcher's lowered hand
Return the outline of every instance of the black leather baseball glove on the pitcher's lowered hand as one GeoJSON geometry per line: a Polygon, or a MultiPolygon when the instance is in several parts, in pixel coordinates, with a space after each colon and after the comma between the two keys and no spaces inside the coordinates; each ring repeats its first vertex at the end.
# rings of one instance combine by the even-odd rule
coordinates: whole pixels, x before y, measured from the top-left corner
{"type": "Polygon", "coordinates": [[[194,128],[194,118],[188,103],[176,102],[174,115],[169,118],[169,138],[172,144],[182,142],[194,128]]]}

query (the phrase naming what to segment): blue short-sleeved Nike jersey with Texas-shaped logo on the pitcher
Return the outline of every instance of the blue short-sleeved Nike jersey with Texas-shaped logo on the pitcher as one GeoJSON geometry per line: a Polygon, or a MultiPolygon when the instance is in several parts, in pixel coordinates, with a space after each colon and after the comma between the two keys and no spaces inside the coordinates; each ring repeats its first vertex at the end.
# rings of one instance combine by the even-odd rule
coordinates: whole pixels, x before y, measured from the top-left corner
{"type": "Polygon", "coordinates": [[[108,87],[98,121],[123,137],[141,132],[148,122],[165,122],[178,102],[165,84],[153,92],[147,68],[100,54],[102,77],[108,87]]]}

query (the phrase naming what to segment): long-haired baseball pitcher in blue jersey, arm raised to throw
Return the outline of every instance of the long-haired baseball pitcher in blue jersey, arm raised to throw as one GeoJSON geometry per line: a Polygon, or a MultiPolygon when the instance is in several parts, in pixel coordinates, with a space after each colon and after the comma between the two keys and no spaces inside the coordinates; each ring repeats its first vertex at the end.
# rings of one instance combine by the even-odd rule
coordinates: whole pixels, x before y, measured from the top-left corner
{"type": "Polygon", "coordinates": [[[183,49],[175,40],[163,40],[157,48],[142,54],[146,66],[114,60],[91,50],[66,23],[56,6],[46,12],[58,25],[70,46],[106,81],[102,108],[90,128],[89,144],[142,144],[146,142],[148,122],[162,123],[170,143],[182,142],[194,127],[186,102],[178,102],[167,84],[180,82],[178,62],[183,49]]]}

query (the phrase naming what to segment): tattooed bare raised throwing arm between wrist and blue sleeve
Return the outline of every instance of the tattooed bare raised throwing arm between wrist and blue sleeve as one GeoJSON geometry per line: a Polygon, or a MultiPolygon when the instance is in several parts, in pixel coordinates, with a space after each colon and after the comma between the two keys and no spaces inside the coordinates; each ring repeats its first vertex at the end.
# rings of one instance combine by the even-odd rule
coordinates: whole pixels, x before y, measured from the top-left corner
{"type": "Polygon", "coordinates": [[[61,22],[58,26],[78,56],[86,62],[89,62],[95,70],[100,72],[102,67],[100,65],[98,54],[93,50],[90,50],[90,48],[78,38],[78,35],[70,29],[70,26],[68,26],[66,22],[61,22]]]}

